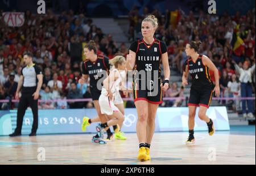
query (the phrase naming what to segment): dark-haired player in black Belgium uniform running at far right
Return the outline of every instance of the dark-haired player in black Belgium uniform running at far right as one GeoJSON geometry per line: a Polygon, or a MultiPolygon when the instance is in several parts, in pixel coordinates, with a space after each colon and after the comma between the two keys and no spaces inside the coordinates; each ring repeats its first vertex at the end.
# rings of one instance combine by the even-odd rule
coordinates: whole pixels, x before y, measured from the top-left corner
{"type": "Polygon", "coordinates": [[[192,77],[192,85],[188,101],[189,136],[186,144],[195,143],[193,134],[197,106],[200,106],[198,116],[202,121],[207,123],[209,135],[212,136],[214,134],[213,121],[206,115],[206,113],[210,106],[210,102],[212,101],[213,92],[215,92],[215,96],[220,96],[218,70],[207,56],[197,53],[199,51],[200,44],[201,42],[191,41],[186,45],[185,48],[185,52],[190,58],[187,59],[184,64],[184,71],[182,76],[183,85],[188,85],[188,73],[190,73],[192,77]],[[216,80],[215,87],[210,78],[209,70],[214,71],[214,77],[216,80]]]}

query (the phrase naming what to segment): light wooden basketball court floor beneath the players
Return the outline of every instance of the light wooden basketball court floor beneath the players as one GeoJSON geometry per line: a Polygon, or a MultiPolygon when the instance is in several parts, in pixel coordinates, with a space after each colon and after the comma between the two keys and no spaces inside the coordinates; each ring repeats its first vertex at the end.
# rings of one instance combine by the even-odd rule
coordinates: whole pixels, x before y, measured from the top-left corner
{"type": "Polygon", "coordinates": [[[92,134],[0,138],[0,164],[253,164],[255,135],[195,132],[196,144],[185,145],[187,132],[159,132],[151,145],[151,161],[137,160],[135,133],[127,140],[93,144],[92,134]]]}

